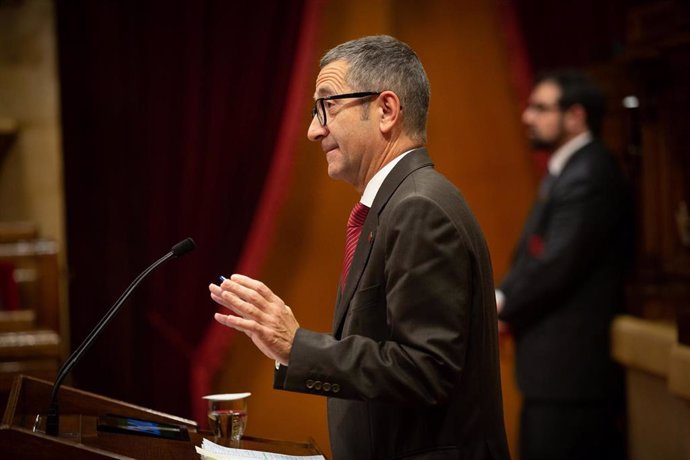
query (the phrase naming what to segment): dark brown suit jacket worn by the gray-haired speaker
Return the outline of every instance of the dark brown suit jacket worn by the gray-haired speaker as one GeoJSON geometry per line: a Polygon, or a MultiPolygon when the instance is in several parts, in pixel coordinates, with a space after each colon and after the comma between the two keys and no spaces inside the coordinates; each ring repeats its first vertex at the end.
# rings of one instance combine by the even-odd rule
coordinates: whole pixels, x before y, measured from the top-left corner
{"type": "Polygon", "coordinates": [[[299,329],[276,387],[329,397],[336,459],[508,458],[489,253],[425,149],[367,216],[333,335],[299,329]]]}

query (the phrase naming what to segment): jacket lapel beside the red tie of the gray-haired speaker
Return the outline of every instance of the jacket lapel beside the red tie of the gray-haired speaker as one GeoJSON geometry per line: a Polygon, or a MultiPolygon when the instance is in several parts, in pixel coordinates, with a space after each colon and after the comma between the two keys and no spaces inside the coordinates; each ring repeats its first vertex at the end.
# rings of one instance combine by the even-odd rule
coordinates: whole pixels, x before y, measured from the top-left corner
{"type": "Polygon", "coordinates": [[[383,184],[381,184],[381,188],[376,194],[376,198],[374,198],[374,203],[371,205],[369,214],[367,214],[367,218],[362,225],[362,234],[357,241],[357,248],[352,257],[352,265],[350,265],[350,272],[347,275],[347,282],[345,283],[342,294],[338,293],[338,300],[333,315],[333,335],[336,338],[340,338],[342,334],[345,314],[350,307],[350,301],[359,285],[359,280],[362,277],[362,273],[364,272],[371,254],[371,249],[374,246],[381,211],[383,211],[388,200],[390,200],[403,180],[413,171],[425,166],[433,166],[429,154],[425,148],[416,149],[400,160],[383,181],[383,184]]]}

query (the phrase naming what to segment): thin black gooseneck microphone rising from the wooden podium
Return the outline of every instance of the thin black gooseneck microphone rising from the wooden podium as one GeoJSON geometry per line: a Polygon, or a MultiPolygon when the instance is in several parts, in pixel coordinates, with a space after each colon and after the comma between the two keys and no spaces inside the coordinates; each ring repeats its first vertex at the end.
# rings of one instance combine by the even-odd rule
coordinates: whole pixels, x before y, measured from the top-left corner
{"type": "Polygon", "coordinates": [[[60,408],[58,404],[57,395],[62,381],[65,379],[67,374],[69,374],[72,368],[79,362],[84,353],[86,353],[86,351],[89,348],[91,348],[93,342],[101,334],[101,332],[103,332],[103,329],[105,329],[108,323],[110,323],[110,320],[112,320],[113,317],[120,311],[120,307],[122,307],[122,304],[125,302],[125,300],[127,300],[132,291],[134,291],[134,288],[136,288],[149,273],[155,270],[166,260],[171,259],[173,257],[182,257],[188,252],[194,250],[194,248],[196,248],[196,243],[194,243],[193,239],[187,238],[185,240],[182,240],[175,246],[173,246],[167,254],[165,254],[163,257],[151,264],[146,270],[141,272],[141,274],[137,276],[137,278],[134,281],[132,281],[132,284],[130,284],[129,287],[127,287],[125,292],[122,293],[120,298],[117,299],[115,304],[113,304],[113,306],[110,307],[110,310],[108,310],[105,316],[101,318],[98,324],[96,324],[96,327],[93,328],[93,330],[84,339],[81,345],[79,345],[79,347],[76,350],[74,350],[74,352],[72,352],[71,355],[69,355],[65,363],[58,370],[57,377],[55,378],[55,383],[53,384],[53,390],[50,394],[50,407],[48,408],[48,417],[46,420],[46,434],[50,436],[57,436],[60,432],[60,408]]]}

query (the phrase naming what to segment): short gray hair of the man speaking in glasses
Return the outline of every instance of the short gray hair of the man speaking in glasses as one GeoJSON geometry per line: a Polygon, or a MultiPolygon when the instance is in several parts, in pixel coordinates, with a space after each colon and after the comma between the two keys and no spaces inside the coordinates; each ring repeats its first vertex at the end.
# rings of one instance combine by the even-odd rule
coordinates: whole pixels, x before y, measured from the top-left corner
{"type": "Polygon", "coordinates": [[[429,79],[417,54],[407,44],[388,35],[373,35],[342,43],[326,52],[321,68],[345,61],[345,79],[355,91],[393,91],[400,98],[403,129],[426,142],[429,79]]]}

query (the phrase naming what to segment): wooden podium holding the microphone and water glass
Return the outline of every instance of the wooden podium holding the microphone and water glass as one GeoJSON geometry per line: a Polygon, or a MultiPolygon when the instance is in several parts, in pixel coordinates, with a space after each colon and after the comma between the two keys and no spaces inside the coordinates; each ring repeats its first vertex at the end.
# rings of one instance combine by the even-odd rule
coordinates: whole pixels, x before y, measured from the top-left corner
{"type": "MultiPolygon", "coordinates": [[[[24,375],[12,386],[5,415],[0,425],[0,457],[12,459],[193,459],[198,460],[194,446],[200,446],[211,433],[197,430],[196,422],[151,409],[128,404],[94,393],[61,387],[59,392],[60,423],[72,431],[70,436],[53,437],[33,431],[37,414],[45,414],[53,384],[24,375]],[[96,430],[102,414],[117,414],[175,425],[189,432],[189,441],[174,441],[132,434],[96,430]],[[75,422],[76,421],[76,422],[75,422]]],[[[319,455],[313,441],[296,443],[245,436],[237,446],[288,455],[319,455]]]]}

